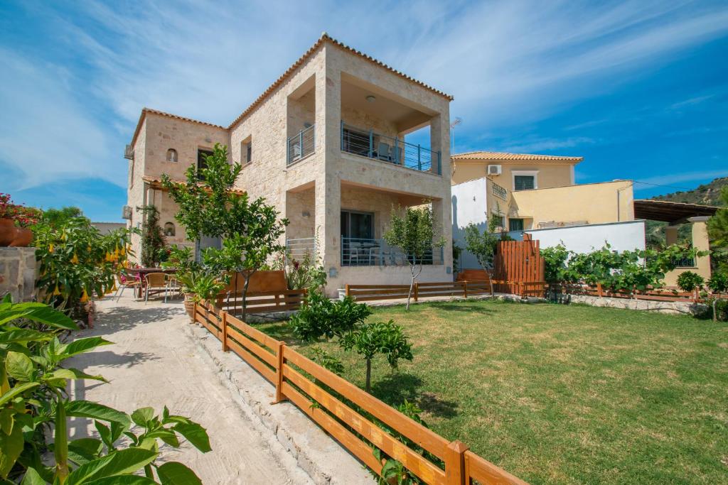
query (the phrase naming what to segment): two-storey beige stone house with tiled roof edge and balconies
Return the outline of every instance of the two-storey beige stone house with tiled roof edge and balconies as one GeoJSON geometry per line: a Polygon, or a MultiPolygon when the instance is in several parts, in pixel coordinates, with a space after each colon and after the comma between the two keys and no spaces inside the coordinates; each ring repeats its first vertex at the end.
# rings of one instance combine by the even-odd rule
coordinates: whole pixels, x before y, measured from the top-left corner
{"type": "MultiPolygon", "coordinates": [[[[405,255],[381,239],[393,207],[431,204],[448,244],[428,257],[421,280],[447,281],[451,100],[324,33],[227,127],[144,108],[125,154],[124,215],[138,227],[135,207],[154,204],[167,243],[194,246],[160,180],[183,180],[190,164],[221,143],[243,165],[237,189],[265,197],[290,220],[281,241],[290,257],[322,258],[329,294],[345,284],[408,281],[405,255]],[[408,143],[413,132],[419,144],[408,143]]],[[[140,244],[135,237],[137,254],[140,244]]]]}

